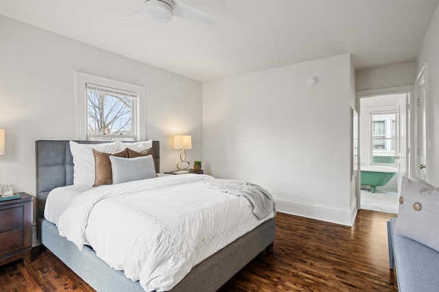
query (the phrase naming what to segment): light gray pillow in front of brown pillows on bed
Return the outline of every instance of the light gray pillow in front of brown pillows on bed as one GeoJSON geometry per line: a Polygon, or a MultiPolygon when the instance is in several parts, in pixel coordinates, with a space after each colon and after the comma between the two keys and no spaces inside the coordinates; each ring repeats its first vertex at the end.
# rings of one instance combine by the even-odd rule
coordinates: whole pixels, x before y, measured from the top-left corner
{"type": "Polygon", "coordinates": [[[113,184],[156,177],[154,159],[151,155],[137,158],[110,156],[110,161],[113,184]]]}

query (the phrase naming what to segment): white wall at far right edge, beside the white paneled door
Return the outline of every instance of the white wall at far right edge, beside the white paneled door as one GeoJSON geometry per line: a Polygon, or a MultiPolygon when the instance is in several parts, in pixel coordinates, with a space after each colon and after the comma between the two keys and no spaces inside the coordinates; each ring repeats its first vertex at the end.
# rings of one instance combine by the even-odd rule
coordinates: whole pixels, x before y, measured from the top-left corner
{"type": "Polygon", "coordinates": [[[416,72],[428,63],[427,121],[429,123],[429,183],[439,186],[439,6],[431,20],[416,61],[416,72]]]}

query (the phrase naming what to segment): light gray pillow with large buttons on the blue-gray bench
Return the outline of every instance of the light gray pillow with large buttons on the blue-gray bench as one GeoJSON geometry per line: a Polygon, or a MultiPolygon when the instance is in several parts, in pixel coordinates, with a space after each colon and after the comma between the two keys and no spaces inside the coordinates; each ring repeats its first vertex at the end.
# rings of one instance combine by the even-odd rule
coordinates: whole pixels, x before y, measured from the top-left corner
{"type": "Polygon", "coordinates": [[[439,252],[439,190],[403,178],[395,233],[439,252]]]}

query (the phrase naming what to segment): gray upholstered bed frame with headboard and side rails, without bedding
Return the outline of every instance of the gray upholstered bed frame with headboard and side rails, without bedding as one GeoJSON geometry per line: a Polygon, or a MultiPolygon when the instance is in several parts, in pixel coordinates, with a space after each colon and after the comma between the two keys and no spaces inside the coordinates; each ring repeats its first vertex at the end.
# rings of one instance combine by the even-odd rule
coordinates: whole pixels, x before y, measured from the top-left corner
{"type": "MultiPolygon", "coordinates": [[[[96,144],[95,141],[75,141],[96,144]]],[[[160,172],[160,145],[152,142],[154,165],[160,172]]],[[[78,247],[60,236],[58,228],[44,218],[47,195],[54,188],[73,184],[73,156],[69,141],[36,141],[36,197],[38,239],[62,262],[97,291],[144,291],[123,271],[116,270],[98,258],[86,245],[78,247]]],[[[268,219],[250,232],[226,245],[195,265],[171,291],[216,291],[255,256],[273,248],[276,237],[275,218],[268,219]]]]}

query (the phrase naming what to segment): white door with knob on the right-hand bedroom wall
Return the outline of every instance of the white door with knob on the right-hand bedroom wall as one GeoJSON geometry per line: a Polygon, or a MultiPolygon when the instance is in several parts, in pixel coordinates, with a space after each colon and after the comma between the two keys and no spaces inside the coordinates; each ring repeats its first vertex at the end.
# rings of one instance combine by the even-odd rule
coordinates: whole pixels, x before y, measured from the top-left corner
{"type": "Polygon", "coordinates": [[[425,117],[425,99],[427,95],[426,66],[420,71],[416,80],[416,110],[414,117],[414,176],[420,180],[427,182],[427,119],[425,117]]]}

